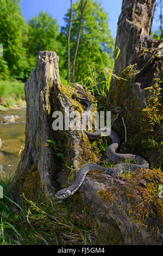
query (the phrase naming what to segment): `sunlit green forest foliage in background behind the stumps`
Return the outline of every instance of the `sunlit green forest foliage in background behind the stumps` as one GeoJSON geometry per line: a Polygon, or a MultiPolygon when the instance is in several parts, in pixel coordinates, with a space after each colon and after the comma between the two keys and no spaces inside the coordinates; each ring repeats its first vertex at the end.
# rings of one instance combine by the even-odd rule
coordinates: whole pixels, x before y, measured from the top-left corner
{"type": "MultiPolygon", "coordinates": [[[[52,15],[41,11],[28,22],[22,14],[20,0],[0,0],[0,43],[3,57],[0,58],[0,79],[15,78],[27,81],[35,68],[39,51],[57,52],[60,75],[67,80],[67,38],[70,24],[70,9],[65,14],[65,27],[61,27],[52,15]]],[[[70,36],[70,66],[79,31],[80,1],[72,5],[72,27],[70,36]]],[[[74,80],[81,80],[88,72],[87,64],[98,67],[103,61],[110,66],[114,52],[114,38],[111,35],[108,13],[98,1],[88,0],[83,14],[82,33],[76,59],[74,80]]],[[[72,74],[72,70],[70,71],[72,74]]]]}

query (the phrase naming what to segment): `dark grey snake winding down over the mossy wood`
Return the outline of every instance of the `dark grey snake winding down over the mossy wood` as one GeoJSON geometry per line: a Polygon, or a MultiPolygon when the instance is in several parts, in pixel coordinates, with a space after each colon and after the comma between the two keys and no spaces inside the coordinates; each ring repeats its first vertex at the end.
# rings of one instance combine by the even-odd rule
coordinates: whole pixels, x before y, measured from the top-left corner
{"type": "MultiPolygon", "coordinates": [[[[76,94],[76,98],[78,100],[83,101],[87,105],[86,112],[83,116],[83,119],[87,123],[87,121],[89,120],[91,111],[93,109],[93,104],[83,92],[76,90],[75,94],[76,94]],[[77,93],[82,94],[83,97],[79,97],[77,95],[77,93]]],[[[106,149],[107,159],[105,161],[108,162],[109,160],[114,160],[115,162],[119,162],[119,163],[117,163],[114,167],[104,167],[104,166],[101,166],[99,164],[94,164],[94,163],[84,164],[84,166],[82,166],[79,169],[79,171],[76,175],[76,179],[74,180],[73,184],[70,187],[67,187],[67,188],[64,188],[64,189],[58,191],[55,194],[55,197],[63,199],[63,198],[71,196],[83,184],[85,176],[90,170],[102,170],[103,169],[104,174],[120,175],[123,172],[132,173],[137,168],[149,168],[148,162],[142,156],[134,155],[134,154],[118,154],[118,153],[116,153],[116,150],[118,149],[118,147],[120,147],[120,138],[117,136],[115,131],[113,131],[107,127],[103,127],[101,129],[99,129],[98,131],[95,131],[95,132],[85,131],[85,133],[87,134],[87,136],[90,139],[96,139],[97,137],[101,136],[102,133],[104,133],[106,135],[108,134],[112,140],[112,144],[109,145],[108,149],[106,149]],[[127,163],[127,162],[136,162],[136,163],[127,163]]]]}

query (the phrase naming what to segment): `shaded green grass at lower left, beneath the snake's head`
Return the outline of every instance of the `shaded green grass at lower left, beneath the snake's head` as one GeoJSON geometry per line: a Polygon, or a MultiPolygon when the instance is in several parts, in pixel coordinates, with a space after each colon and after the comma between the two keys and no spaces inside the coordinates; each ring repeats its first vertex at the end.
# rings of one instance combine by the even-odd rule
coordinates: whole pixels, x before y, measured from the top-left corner
{"type": "Polygon", "coordinates": [[[22,194],[21,205],[8,193],[11,179],[0,179],[0,245],[91,245],[87,228],[70,219],[71,202],[63,205],[41,193],[36,202],[22,194]]]}

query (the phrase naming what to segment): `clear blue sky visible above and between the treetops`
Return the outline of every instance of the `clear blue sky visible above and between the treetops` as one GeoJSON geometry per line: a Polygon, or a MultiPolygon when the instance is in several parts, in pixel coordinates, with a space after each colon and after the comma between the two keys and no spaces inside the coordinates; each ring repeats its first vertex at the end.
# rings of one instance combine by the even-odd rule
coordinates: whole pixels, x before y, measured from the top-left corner
{"type": "MultiPolygon", "coordinates": [[[[73,3],[76,0],[72,1],[73,3]]],[[[100,0],[105,11],[109,13],[109,27],[112,36],[116,37],[118,17],[121,14],[122,0],[100,0]]],[[[33,16],[37,16],[41,10],[52,14],[53,18],[58,21],[58,25],[64,26],[64,15],[70,8],[70,0],[22,0],[22,13],[28,21],[33,16]]]]}

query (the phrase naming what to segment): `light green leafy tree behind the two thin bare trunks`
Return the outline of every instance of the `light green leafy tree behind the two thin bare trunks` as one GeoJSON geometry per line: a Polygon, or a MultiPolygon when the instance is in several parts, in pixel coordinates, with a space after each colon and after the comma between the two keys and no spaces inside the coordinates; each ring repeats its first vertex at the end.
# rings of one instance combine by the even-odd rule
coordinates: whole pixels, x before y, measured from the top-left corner
{"type": "MultiPolygon", "coordinates": [[[[76,51],[77,38],[80,24],[80,2],[73,3],[72,28],[70,37],[71,65],[76,51]]],[[[62,44],[68,37],[70,25],[70,9],[65,15],[66,26],[61,28],[62,44]]],[[[87,74],[87,64],[91,67],[100,66],[102,60],[104,65],[111,66],[114,51],[114,38],[112,38],[109,25],[108,13],[104,11],[98,1],[88,0],[84,13],[80,43],[75,65],[74,80],[79,81],[87,74]]],[[[67,54],[67,52],[66,52],[67,54]]],[[[62,68],[66,69],[66,63],[62,68]]]]}

